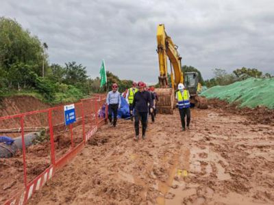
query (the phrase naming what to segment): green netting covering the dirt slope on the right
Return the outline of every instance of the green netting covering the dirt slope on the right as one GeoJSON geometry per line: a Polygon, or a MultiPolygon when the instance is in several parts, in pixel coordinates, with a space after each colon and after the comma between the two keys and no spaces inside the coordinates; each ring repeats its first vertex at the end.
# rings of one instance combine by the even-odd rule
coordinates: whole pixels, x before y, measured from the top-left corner
{"type": "Polygon", "coordinates": [[[225,86],[214,86],[201,93],[206,98],[219,98],[227,102],[238,102],[240,107],[264,105],[274,109],[274,78],[250,78],[225,86]]]}

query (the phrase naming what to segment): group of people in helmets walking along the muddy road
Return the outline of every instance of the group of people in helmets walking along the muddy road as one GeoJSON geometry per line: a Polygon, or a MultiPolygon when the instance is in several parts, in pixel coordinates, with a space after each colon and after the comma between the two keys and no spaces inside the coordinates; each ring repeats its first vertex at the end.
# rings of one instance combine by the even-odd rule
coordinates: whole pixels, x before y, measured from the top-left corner
{"type": "MultiPolygon", "coordinates": [[[[147,85],[139,81],[138,83],[132,83],[126,94],[125,99],[129,104],[130,119],[134,120],[135,139],[139,139],[139,124],[142,124],[142,139],[145,139],[145,133],[147,130],[148,116],[151,115],[151,121],[155,121],[156,115],[156,101],[158,96],[154,92],[154,87],[147,87],[147,85]]],[[[189,129],[190,124],[190,95],[188,90],[184,89],[184,85],[179,83],[178,90],[176,92],[177,107],[181,117],[183,131],[186,128],[189,129]],[[185,116],[187,117],[185,123],[185,116]]],[[[108,104],[108,119],[112,126],[116,126],[118,109],[121,107],[121,94],[118,92],[118,85],[112,84],[112,91],[108,92],[106,98],[108,104]],[[113,114],[113,122],[112,122],[113,114]]]]}

